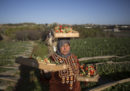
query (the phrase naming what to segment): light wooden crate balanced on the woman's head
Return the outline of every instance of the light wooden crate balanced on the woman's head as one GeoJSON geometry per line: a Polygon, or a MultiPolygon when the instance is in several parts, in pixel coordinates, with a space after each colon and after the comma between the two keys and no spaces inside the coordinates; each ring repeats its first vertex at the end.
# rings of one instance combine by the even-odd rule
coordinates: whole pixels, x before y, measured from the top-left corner
{"type": "Polygon", "coordinates": [[[54,32],[54,37],[55,38],[74,38],[74,37],[79,37],[79,33],[77,31],[74,31],[71,33],[56,33],[54,32]]]}

